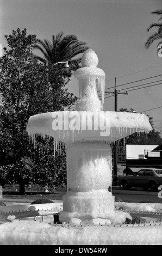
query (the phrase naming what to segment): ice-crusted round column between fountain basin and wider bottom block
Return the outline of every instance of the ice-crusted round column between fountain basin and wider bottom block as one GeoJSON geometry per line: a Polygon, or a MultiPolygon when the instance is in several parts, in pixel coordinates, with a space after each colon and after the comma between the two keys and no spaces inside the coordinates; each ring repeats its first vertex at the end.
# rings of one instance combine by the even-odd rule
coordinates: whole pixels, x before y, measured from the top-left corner
{"type": "Polygon", "coordinates": [[[107,190],[112,180],[111,148],[82,143],[67,148],[67,186],[73,192],[107,190]],[[69,170],[69,172],[68,172],[69,170]]]}

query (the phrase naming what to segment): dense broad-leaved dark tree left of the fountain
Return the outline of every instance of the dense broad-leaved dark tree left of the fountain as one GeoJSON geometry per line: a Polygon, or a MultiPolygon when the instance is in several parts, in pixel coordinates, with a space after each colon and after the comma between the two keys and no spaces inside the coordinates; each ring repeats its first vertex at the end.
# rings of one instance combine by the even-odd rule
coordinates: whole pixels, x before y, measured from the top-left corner
{"type": "MultiPolygon", "coordinates": [[[[38,113],[63,111],[64,107],[73,105],[77,97],[65,89],[70,78],[63,77],[64,73],[55,74],[51,66],[47,71],[46,65],[34,58],[36,35],[27,35],[26,29],[20,31],[17,28],[11,35],[5,35],[5,39],[8,48],[4,48],[0,60],[0,83],[4,98],[4,105],[0,109],[0,181],[5,174],[5,181],[18,182],[23,193],[25,184],[36,184],[39,163],[44,178],[47,174],[48,177],[57,177],[59,163],[65,170],[58,154],[48,164],[51,159],[48,156],[49,148],[53,149],[53,146],[47,138],[46,143],[39,138],[34,149],[26,132],[29,117],[38,113]],[[40,149],[44,150],[46,156],[41,154],[40,149]],[[46,166],[41,157],[46,159],[46,166]]],[[[40,178],[40,185],[50,179],[44,178],[40,178]]],[[[56,178],[51,180],[52,183],[58,185],[56,178]]]]}

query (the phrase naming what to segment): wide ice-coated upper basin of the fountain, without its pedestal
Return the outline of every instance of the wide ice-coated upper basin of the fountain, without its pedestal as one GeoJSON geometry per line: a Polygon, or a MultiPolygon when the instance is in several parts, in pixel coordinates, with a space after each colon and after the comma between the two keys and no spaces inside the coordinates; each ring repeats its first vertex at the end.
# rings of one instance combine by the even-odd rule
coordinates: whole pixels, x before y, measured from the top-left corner
{"type": "Polygon", "coordinates": [[[111,143],[134,132],[148,133],[151,130],[147,115],[114,111],[42,113],[30,117],[27,125],[28,134],[32,137],[38,133],[64,143],[82,139],[111,143]]]}

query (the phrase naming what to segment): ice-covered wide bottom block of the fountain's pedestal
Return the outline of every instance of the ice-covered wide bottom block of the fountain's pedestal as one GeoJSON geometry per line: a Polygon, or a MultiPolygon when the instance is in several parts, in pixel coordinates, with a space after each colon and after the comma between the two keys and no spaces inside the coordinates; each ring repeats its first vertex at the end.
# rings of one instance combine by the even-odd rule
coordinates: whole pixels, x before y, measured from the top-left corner
{"type": "Polygon", "coordinates": [[[63,211],[60,212],[60,220],[70,222],[71,218],[79,218],[81,221],[91,218],[108,218],[114,214],[114,196],[108,190],[92,192],[67,192],[63,197],[63,211]]]}

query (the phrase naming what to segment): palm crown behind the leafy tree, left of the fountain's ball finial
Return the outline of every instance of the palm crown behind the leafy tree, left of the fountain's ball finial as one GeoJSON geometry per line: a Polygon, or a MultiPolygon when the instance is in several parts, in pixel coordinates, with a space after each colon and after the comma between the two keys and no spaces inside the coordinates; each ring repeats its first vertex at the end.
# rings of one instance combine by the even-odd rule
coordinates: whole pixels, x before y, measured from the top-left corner
{"type": "Polygon", "coordinates": [[[60,32],[56,36],[52,36],[52,42],[45,39],[37,39],[34,49],[40,50],[43,57],[34,56],[40,62],[58,63],[66,62],[70,65],[71,70],[76,70],[80,67],[81,57],[74,58],[80,53],[88,50],[86,42],[79,41],[76,35],[66,35],[60,32]]]}

